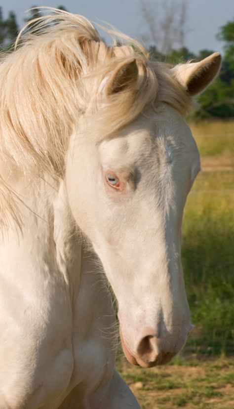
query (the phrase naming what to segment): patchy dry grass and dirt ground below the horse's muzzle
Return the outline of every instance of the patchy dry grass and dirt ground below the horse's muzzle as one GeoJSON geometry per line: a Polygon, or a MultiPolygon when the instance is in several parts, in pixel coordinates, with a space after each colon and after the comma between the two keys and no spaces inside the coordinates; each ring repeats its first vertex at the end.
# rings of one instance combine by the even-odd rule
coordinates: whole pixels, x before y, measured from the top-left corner
{"type": "Polygon", "coordinates": [[[234,409],[234,358],[118,369],[142,409],[234,409]]]}

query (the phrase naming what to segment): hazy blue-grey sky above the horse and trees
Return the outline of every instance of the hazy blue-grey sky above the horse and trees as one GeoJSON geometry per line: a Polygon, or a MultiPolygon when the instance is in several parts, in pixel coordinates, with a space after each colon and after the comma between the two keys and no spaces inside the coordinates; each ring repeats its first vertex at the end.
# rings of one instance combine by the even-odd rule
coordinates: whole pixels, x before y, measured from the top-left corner
{"type": "MultiPolygon", "coordinates": [[[[14,11],[20,25],[24,11],[33,5],[57,7],[82,14],[94,22],[105,21],[121,32],[141,40],[147,32],[140,11],[141,0],[1,0],[3,17],[14,11]]],[[[188,22],[185,45],[194,53],[207,48],[223,52],[223,43],[216,39],[219,28],[234,18],[234,0],[187,0],[188,22]]],[[[102,34],[102,33],[101,33],[102,34]]]]}

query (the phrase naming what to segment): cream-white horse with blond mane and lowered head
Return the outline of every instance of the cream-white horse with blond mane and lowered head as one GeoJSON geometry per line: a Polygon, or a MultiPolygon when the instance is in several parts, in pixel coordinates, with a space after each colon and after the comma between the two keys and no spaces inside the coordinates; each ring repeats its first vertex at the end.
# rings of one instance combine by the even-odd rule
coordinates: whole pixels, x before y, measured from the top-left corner
{"type": "Polygon", "coordinates": [[[46,12],[0,63],[0,409],[137,409],[105,277],[127,360],[169,362],[192,329],[181,224],[200,163],[185,116],[221,57],[171,67],[46,12]]]}

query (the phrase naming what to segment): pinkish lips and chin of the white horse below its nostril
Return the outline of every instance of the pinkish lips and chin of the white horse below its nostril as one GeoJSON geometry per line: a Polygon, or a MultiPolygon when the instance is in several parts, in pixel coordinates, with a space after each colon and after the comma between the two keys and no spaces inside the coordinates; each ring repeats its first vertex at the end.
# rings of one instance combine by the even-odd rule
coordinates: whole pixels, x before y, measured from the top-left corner
{"type": "Polygon", "coordinates": [[[119,334],[120,334],[120,339],[121,339],[121,344],[122,344],[124,355],[126,359],[128,360],[128,362],[132,365],[140,366],[142,368],[153,368],[153,367],[156,367],[157,365],[168,364],[168,362],[170,362],[170,360],[176,355],[176,353],[173,353],[173,352],[163,352],[163,353],[156,355],[153,361],[147,358],[140,357],[138,354],[133,355],[133,353],[129,351],[125,343],[125,340],[124,340],[124,337],[121,331],[121,327],[119,327],[119,334]]]}

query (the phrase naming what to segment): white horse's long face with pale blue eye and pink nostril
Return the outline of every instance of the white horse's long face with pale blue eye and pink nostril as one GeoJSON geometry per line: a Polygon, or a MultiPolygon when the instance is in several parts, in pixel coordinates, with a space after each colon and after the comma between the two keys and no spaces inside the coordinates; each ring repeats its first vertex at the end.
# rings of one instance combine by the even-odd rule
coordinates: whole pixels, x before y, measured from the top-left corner
{"type": "Polygon", "coordinates": [[[168,362],[192,328],[181,223],[198,170],[189,127],[166,104],[98,146],[73,142],[67,156],[73,215],[117,297],[125,355],[142,367],[168,362]]]}

